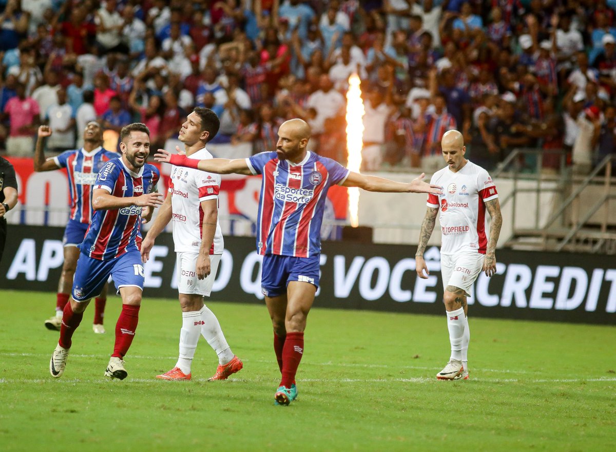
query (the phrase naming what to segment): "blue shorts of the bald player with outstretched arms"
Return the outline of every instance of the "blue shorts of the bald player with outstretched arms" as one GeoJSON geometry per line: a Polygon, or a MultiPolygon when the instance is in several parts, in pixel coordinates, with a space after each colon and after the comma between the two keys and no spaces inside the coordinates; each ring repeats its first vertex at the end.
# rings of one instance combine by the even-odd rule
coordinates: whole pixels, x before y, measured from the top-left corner
{"type": "Polygon", "coordinates": [[[318,289],[320,254],[311,257],[266,254],[261,267],[261,290],[265,297],[286,293],[291,281],[309,282],[318,289]]]}

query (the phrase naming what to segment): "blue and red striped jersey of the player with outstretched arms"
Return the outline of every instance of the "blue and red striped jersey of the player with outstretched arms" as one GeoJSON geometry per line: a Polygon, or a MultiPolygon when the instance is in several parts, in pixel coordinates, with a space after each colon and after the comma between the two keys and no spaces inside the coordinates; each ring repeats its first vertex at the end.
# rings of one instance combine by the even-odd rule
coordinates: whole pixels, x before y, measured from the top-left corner
{"type": "Polygon", "coordinates": [[[331,158],[307,152],[301,163],[278,160],[275,152],[246,158],[262,175],[257,249],[262,255],[310,257],[321,250],[321,223],[327,191],[342,184],[349,170],[331,158]]]}

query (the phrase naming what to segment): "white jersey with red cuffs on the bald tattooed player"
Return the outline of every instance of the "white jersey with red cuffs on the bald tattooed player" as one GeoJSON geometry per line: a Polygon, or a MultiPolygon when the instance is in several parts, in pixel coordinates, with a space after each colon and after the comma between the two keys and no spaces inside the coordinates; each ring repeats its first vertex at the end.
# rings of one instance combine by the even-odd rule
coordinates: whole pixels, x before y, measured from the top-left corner
{"type": "Polygon", "coordinates": [[[442,195],[428,195],[428,207],[440,208],[440,252],[485,254],[485,202],[498,198],[488,172],[467,162],[457,173],[449,166],[437,171],[430,183],[443,187],[442,195]]]}

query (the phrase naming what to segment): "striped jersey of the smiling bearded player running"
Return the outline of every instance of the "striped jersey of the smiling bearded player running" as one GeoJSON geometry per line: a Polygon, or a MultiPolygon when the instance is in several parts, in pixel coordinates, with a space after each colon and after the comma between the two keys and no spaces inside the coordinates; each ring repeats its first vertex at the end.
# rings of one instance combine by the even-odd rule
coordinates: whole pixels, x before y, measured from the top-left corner
{"type": "MultiPolygon", "coordinates": [[[[147,163],[139,173],[129,170],[121,158],[110,160],[101,168],[92,189],[104,189],[116,197],[140,196],[156,190],[160,172],[147,163]]],[[[98,260],[110,260],[126,252],[140,250],[141,207],[97,210],[79,245],[81,252],[98,260]]]]}

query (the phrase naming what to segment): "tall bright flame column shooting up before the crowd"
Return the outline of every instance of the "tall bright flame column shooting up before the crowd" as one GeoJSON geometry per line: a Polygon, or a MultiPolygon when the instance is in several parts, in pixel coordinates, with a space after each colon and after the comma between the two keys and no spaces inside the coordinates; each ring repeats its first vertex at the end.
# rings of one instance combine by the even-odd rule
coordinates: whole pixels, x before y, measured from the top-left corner
{"type": "MultiPolygon", "coordinates": [[[[360,80],[357,74],[352,74],[349,77],[349,91],[347,91],[347,168],[351,171],[359,173],[359,168],[362,166],[362,145],[363,145],[363,109],[362,90],[360,89],[360,80]]],[[[351,217],[351,226],[357,228],[359,226],[359,188],[351,187],[349,191],[349,216],[351,217]]]]}

